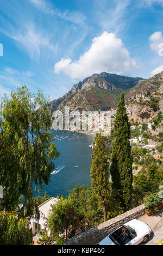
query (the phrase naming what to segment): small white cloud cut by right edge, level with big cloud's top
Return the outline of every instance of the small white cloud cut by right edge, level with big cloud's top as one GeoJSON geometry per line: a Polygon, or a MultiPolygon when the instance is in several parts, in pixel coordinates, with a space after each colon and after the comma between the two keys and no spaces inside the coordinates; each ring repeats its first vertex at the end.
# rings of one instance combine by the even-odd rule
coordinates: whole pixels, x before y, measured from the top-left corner
{"type": "Polygon", "coordinates": [[[163,56],[163,37],[162,37],[162,32],[158,31],[158,32],[153,33],[149,37],[149,41],[150,41],[151,49],[156,51],[160,57],[163,56]]]}

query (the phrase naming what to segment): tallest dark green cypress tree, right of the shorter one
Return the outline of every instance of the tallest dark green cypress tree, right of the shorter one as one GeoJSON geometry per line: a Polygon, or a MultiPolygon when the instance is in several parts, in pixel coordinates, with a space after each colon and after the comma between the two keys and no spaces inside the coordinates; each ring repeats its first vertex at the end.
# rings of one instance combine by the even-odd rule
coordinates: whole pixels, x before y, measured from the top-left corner
{"type": "Polygon", "coordinates": [[[110,174],[112,187],[120,192],[121,205],[128,209],[131,201],[133,183],[133,158],[130,146],[130,123],[126,113],[124,94],[121,93],[114,126],[110,174]]]}

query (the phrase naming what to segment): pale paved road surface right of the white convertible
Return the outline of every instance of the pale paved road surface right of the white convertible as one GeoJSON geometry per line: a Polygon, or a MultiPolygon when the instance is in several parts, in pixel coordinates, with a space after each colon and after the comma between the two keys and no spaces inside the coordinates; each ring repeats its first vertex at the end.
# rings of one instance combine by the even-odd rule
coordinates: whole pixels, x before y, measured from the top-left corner
{"type": "Polygon", "coordinates": [[[139,220],[147,223],[153,231],[146,245],[158,245],[159,240],[163,242],[163,208],[152,216],[143,215],[139,220]]]}

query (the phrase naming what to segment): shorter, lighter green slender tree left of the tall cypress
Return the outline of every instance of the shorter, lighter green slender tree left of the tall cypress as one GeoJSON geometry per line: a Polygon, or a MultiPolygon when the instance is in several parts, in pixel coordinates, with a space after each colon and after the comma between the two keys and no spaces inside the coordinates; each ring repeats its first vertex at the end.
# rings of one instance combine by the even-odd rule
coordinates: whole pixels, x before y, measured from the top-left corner
{"type": "Polygon", "coordinates": [[[105,141],[105,137],[101,134],[96,138],[96,146],[93,147],[92,164],[90,166],[92,190],[98,198],[99,205],[102,206],[104,221],[106,221],[106,203],[110,197],[105,141]]]}

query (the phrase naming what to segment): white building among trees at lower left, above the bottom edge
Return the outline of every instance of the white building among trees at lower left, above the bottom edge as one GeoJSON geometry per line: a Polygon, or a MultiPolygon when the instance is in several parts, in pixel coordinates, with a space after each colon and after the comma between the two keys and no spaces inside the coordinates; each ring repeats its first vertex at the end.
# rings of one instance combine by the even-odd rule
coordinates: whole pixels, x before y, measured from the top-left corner
{"type": "Polygon", "coordinates": [[[30,228],[32,228],[33,235],[38,234],[42,229],[45,229],[47,218],[51,214],[52,205],[57,204],[59,199],[49,198],[43,204],[39,205],[40,219],[36,221],[35,218],[30,219],[30,228]]]}

